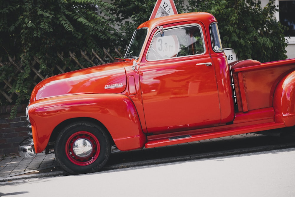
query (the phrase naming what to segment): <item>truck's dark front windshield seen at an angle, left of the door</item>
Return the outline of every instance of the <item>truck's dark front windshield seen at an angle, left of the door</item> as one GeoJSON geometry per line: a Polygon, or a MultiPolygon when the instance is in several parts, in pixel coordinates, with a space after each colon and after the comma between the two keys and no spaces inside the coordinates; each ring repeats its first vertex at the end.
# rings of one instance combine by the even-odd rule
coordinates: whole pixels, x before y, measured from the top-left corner
{"type": "Polygon", "coordinates": [[[146,28],[138,29],[134,32],[133,38],[124,58],[138,59],[147,33],[148,29],[146,28]]]}

